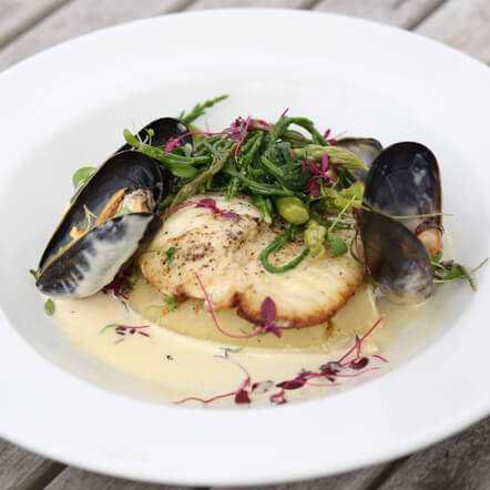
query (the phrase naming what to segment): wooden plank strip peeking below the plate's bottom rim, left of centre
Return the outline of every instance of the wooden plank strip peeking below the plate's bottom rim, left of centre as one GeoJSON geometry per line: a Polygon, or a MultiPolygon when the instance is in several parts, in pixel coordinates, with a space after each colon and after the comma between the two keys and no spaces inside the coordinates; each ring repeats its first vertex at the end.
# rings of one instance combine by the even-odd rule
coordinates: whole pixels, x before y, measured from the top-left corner
{"type": "Polygon", "coordinates": [[[88,471],[68,468],[45,487],[45,490],[184,490],[183,487],[140,483],[119,478],[103,477],[88,471]]]}

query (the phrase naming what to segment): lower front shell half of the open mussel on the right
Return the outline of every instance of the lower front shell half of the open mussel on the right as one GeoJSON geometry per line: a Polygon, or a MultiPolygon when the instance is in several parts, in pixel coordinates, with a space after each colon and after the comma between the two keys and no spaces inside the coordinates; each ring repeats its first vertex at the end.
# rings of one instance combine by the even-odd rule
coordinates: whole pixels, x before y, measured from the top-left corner
{"type": "Polygon", "coordinates": [[[418,304],[433,292],[433,273],[423,244],[402,224],[363,211],[359,218],[369,274],[394,303],[418,304]]]}

